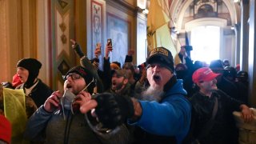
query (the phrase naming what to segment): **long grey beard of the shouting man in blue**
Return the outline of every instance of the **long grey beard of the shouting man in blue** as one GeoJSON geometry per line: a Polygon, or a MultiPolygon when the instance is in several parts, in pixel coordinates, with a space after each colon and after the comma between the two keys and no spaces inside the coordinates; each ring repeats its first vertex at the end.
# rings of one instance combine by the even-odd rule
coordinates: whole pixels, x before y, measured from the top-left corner
{"type": "Polygon", "coordinates": [[[148,87],[142,92],[141,99],[146,101],[156,101],[160,102],[164,96],[165,92],[158,87],[148,87]]]}

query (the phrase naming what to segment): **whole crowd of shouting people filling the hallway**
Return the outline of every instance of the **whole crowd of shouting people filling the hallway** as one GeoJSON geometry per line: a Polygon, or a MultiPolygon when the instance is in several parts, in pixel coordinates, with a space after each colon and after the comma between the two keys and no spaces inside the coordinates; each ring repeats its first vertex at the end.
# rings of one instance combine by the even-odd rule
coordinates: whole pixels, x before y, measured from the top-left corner
{"type": "MultiPolygon", "coordinates": [[[[254,118],[247,106],[248,74],[228,60],[209,66],[193,62],[182,47],[181,62],[174,66],[170,50],[156,47],[139,66],[129,50],[121,66],[110,62],[113,49],[106,45],[101,69],[99,47],[90,60],[70,42],[80,66],[64,76],[64,91],[51,90],[38,78],[42,64],[35,58],[18,61],[13,82],[2,83],[24,94],[22,142],[238,143],[232,112],[241,111],[245,122],[254,118]]],[[[0,132],[0,141],[16,143],[13,119],[4,112],[6,88],[0,89],[0,118],[8,126],[0,126],[8,135],[0,132]]]]}

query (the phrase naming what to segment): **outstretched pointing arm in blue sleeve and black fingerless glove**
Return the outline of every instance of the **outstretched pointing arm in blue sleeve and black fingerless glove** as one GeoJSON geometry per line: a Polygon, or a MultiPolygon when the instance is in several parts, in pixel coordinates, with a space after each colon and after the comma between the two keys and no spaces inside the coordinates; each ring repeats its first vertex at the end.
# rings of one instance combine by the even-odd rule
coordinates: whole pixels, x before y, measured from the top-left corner
{"type": "Polygon", "coordinates": [[[141,126],[152,134],[185,135],[190,127],[190,102],[180,95],[173,97],[158,103],[138,101],[122,95],[99,94],[81,106],[80,111],[86,113],[95,108],[99,122],[110,129],[129,120],[129,124],[141,126]]]}

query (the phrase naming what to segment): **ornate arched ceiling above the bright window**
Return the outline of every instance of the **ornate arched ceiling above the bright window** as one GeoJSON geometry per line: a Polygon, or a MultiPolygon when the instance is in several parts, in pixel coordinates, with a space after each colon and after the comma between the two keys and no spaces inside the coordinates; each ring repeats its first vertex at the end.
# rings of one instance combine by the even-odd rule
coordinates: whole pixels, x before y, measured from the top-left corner
{"type": "Polygon", "coordinates": [[[240,21],[238,8],[230,0],[173,0],[170,14],[176,30],[184,31],[187,22],[198,18],[226,19],[227,26],[234,26],[240,21]]]}

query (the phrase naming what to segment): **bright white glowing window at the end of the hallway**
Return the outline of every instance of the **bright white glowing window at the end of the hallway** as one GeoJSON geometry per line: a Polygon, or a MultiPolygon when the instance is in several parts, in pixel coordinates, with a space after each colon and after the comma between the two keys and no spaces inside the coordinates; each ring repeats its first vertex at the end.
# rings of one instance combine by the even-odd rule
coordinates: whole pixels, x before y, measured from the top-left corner
{"type": "Polygon", "coordinates": [[[191,30],[191,58],[194,61],[210,63],[219,59],[220,27],[198,26],[191,30]]]}

